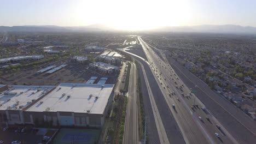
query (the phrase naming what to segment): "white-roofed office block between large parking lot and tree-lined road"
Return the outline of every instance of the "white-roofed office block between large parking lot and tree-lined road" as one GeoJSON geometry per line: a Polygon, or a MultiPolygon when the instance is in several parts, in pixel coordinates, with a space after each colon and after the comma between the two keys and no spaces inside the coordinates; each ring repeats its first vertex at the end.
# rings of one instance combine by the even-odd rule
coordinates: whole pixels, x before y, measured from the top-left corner
{"type": "Polygon", "coordinates": [[[104,75],[112,75],[112,74],[117,74],[119,72],[119,67],[116,67],[114,65],[110,65],[107,63],[103,63],[103,62],[90,63],[89,68],[104,75]]]}

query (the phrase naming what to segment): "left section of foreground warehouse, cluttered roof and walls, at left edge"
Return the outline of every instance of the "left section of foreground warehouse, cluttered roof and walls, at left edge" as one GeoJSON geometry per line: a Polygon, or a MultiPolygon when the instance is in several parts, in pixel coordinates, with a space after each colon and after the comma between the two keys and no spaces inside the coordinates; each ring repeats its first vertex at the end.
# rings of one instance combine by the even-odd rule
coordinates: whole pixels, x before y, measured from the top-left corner
{"type": "Polygon", "coordinates": [[[23,111],[33,105],[54,86],[3,86],[0,88],[0,123],[24,124],[23,111]]]}

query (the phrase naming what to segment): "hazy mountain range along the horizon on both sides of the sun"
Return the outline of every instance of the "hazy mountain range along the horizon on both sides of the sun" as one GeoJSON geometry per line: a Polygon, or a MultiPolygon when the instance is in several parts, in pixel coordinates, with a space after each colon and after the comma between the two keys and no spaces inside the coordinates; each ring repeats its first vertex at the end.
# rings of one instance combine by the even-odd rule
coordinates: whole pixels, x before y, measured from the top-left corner
{"type": "MultiPolygon", "coordinates": [[[[102,25],[95,24],[89,26],[0,26],[1,31],[13,32],[99,32],[99,31],[118,31],[117,29],[102,25]]],[[[251,26],[238,26],[238,25],[200,25],[200,26],[166,26],[155,29],[147,30],[148,32],[201,32],[201,33],[245,33],[256,34],[256,27],[251,26]]]]}

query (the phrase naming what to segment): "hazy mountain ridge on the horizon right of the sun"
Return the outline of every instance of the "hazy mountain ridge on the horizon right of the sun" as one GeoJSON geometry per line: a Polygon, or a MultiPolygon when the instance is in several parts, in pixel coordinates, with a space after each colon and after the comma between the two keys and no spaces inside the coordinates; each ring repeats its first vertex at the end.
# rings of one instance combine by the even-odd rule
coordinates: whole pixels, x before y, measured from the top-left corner
{"type": "Polygon", "coordinates": [[[160,27],[152,29],[158,32],[203,32],[203,33],[248,33],[256,34],[256,27],[238,25],[201,25],[183,27],[160,27]]]}

